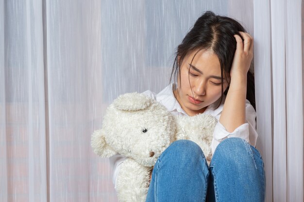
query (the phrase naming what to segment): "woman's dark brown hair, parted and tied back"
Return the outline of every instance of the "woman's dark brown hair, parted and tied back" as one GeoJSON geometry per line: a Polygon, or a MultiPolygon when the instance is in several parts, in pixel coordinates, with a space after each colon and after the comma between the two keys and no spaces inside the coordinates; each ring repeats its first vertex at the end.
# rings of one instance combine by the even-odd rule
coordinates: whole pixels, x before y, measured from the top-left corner
{"type": "MultiPolygon", "coordinates": [[[[192,29],[188,31],[182,43],[177,47],[170,82],[172,81],[172,78],[174,78],[174,81],[177,80],[182,61],[190,51],[198,49],[194,55],[195,57],[200,50],[211,50],[218,56],[220,61],[221,103],[222,96],[223,94],[227,95],[230,85],[230,69],[236,51],[236,39],[234,35],[237,34],[242,38],[238,31],[246,32],[235,19],[226,16],[217,16],[211,11],[205,12],[197,19],[192,29]],[[229,84],[225,92],[223,92],[223,76],[227,78],[229,84]]],[[[192,61],[194,57],[192,58],[192,61]]],[[[255,109],[254,76],[251,71],[248,71],[247,74],[246,98],[255,109]]],[[[220,103],[218,107],[220,106],[220,103]]]]}

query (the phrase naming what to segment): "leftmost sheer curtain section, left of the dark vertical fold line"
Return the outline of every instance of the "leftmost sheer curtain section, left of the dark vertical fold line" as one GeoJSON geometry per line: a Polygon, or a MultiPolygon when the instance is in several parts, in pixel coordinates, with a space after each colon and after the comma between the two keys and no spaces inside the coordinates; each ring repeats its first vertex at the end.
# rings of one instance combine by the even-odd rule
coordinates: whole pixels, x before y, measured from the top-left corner
{"type": "Polygon", "coordinates": [[[0,201],[46,201],[42,1],[0,5],[0,201]]]}

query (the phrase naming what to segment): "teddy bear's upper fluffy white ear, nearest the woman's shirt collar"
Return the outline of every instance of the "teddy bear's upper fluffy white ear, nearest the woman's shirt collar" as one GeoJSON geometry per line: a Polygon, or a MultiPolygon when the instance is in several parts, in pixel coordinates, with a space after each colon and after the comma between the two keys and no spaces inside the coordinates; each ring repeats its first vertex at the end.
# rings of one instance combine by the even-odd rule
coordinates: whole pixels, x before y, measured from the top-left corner
{"type": "Polygon", "coordinates": [[[113,101],[113,106],[118,110],[138,111],[146,109],[152,103],[152,99],[142,93],[125,93],[119,95],[113,101]]]}

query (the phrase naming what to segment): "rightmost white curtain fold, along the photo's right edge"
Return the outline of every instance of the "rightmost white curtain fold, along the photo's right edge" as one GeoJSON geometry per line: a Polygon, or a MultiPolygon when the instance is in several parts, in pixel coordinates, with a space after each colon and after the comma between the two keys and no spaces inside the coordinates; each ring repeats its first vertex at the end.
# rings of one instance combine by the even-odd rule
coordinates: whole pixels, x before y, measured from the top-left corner
{"type": "Polygon", "coordinates": [[[301,3],[301,0],[286,1],[287,201],[289,202],[304,200],[301,3]]]}

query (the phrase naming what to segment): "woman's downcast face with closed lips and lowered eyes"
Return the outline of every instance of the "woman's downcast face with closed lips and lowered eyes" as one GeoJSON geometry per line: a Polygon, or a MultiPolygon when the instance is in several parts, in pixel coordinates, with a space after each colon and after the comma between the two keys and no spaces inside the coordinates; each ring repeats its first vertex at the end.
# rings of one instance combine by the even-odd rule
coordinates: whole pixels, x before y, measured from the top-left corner
{"type": "MultiPolygon", "coordinates": [[[[177,101],[189,116],[203,113],[221,96],[220,61],[217,55],[210,50],[200,50],[190,66],[196,52],[197,50],[191,51],[182,61],[180,77],[177,77],[178,89],[174,92],[177,101]]],[[[225,78],[223,82],[225,91],[228,83],[225,78]]]]}

